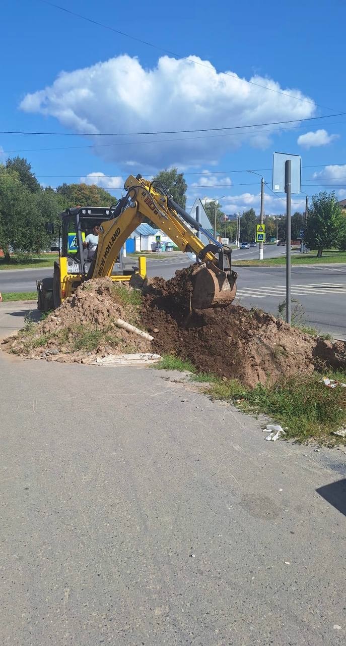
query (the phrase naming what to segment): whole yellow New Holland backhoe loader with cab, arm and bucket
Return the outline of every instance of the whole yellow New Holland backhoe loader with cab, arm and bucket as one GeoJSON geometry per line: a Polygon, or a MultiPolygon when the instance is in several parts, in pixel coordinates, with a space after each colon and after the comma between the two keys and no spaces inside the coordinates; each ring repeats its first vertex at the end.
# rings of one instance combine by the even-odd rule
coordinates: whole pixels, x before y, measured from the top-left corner
{"type": "MultiPolygon", "coordinates": [[[[144,279],[144,256],[139,256],[139,267],[131,271],[124,271],[122,261],[123,245],[144,218],[149,218],[157,229],[164,231],[181,251],[195,254],[198,266],[191,276],[191,306],[205,309],[230,304],[236,295],[238,276],[231,268],[231,249],[215,240],[174,202],[158,180],[149,182],[140,175],[130,175],[124,187],[126,195],[115,207],[76,207],[61,214],[59,262],[55,263],[53,278],[37,281],[39,309],[46,311],[58,307],[82,281],[90,278],[110,276],[111,280],[123,281],[130,280],[137,273],[144,279]],[[99,242],[91,262],[88,262],[83,242],[95,224],[99,225],[99,242]],[[198,233],[204,234],[210,244],[204,245],[198,233]]],[[[53,233],[52,224],[47,226],[53,233]]]]}

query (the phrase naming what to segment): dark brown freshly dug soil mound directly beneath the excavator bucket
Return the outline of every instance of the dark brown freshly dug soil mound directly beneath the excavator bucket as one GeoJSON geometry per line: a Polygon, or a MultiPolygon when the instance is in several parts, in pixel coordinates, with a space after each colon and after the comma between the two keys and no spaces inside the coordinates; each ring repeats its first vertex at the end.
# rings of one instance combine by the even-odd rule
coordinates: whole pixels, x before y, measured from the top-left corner
{"type": "Polygon", "coordinates": [[[234,305],[190,311],[190,275],[191,269],[182,269],[171,280],[149,280],[141,318],[154,336],[154,351],[249,387],[322,364],[346,367],[343,342],[316,340],[264,311],[234,305]]]}

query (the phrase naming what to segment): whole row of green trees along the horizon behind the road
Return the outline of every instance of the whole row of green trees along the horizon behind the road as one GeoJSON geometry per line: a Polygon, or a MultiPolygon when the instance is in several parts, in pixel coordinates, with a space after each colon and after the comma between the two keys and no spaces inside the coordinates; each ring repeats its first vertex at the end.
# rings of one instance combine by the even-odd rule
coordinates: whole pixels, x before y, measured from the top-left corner
{"type": "MultiPolygon", "coordinates": [[[[173,200],[186,208],[187,183],[183,173],[174,168],[165,169],[153,180],[161,182],[173,196],[173,200]]],[[[42,187],[26,159],[8,159],[5,164],[0,164],[0,249],[3,249],[7,262],[10,261],[11,253],[39,255],[51,243],[45,223],[54,222],[59,225],[61,211],[77,205],[110,207],[115,203],[117,198],[96,185],[63,183],[57,189],[42,187]]],[[[207,202],[205,209],[211,226],[215,207],[218,233],[235,240],[236,214],[229,220],[218,202],[207,202]]],[[[240,216],[240,242],[255,240],[258,222],[254,209],[243,211],[240,216]]],[[[285,240],[285,229],[285,216],[265,217],[267,240],[285,240]]],[[[307,222],[304,214],[298,211],[293,214],[292,240],[300,238],[302,232],[305,244],[311,249],[317,249],[318,256],[322,255],[323,249],[331,247],[346,250],[346,217],[334,192],[323,192],[312,197],[307,222]]]]}

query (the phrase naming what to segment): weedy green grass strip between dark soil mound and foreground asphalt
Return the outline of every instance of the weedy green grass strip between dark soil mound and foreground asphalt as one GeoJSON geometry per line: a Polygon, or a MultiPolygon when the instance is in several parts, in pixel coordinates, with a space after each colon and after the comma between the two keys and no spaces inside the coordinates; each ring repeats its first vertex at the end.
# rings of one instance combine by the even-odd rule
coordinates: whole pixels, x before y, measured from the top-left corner
{"type": "MultiPolygon", "coordinates": [[[[274,386],[258,384],[247,388],[237,379],[220,379],[213,374],[198,373],[191,362],[166,355],[157,364],[158,370],[189,370],[191,380],[205,383],[204,391],[212,399],[222,399],[238,406],[245,413],[264,413],[285,428],[287,439],[298,442],[314,439],[319,443],[340,441],[331,435],[346,424],[346,389],[327,388],[322,375],[297,373],[274,386]]],[[[346,382],[346,372],[329,371],[328,376],[346,382]]]]}

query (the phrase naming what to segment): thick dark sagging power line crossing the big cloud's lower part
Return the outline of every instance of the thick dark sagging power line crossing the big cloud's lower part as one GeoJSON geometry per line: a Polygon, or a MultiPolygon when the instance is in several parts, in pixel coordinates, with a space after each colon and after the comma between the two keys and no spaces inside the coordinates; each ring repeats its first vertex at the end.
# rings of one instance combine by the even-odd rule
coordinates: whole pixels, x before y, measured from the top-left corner
{"type": "MultiPolygon", "coordinates": [[[[40,0],[44,2],[45,0],[40,0]]],[[[53,136],[68,136],[68,137],[110,137],[110,136],[133,136],[133,135],[148,135],[148,134],[188,134],[189,132],[220,132],[221,130],[240,130],[243,128],[258,128],[264,125],[282,125],[283,123],[302,123],[302,121],[316,121],[319,119],[329,119],[331,117],[345,116],[346,112],[338,112],[338,114],[323,114],[320,117],[305,117],[303,119],[289,119],[285,121],[265,121],[264,123],[250,123],[249,125],[231,125],[223,126],[221,128],[198,128],[191,130],[153,130],[148,132],[37,132],[34,130],[0,130],[0,134],[35,134],[35,135],[53,135],[53,136]]]]}

